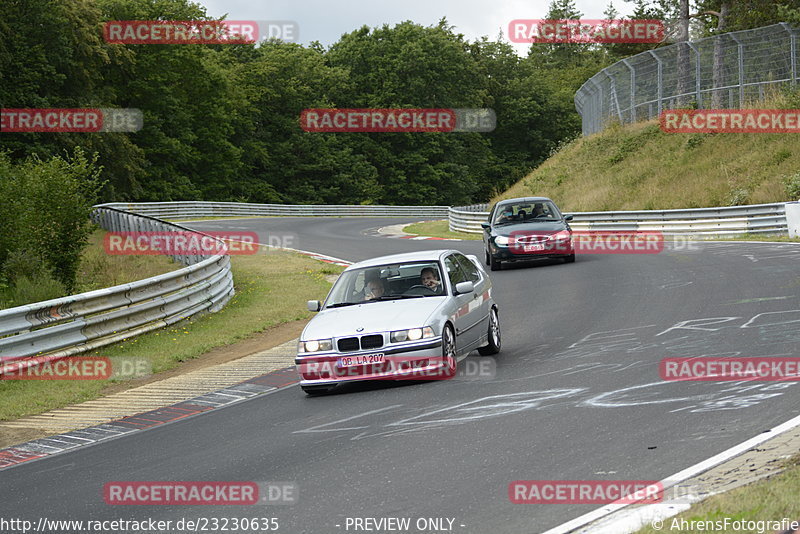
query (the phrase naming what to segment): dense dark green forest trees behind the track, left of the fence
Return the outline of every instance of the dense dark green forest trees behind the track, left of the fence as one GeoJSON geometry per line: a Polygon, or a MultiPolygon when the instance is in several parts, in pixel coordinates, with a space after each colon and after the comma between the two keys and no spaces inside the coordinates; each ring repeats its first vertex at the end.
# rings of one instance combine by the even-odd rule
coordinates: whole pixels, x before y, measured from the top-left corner
{"type": "MultiPolygon", "coordinates": [[[[101,199],[459,204],[488,199],[578,131],[572,93],[595,59],[519,58],[442,20],[359,28],[328,49],[268,42],[119,45],[103,20],[206,19],[188,0],[26,0],[0,5],[0,104],[130,107],[137,133],[0,136],[12,160],[82,147],[101,199]],[[545,61],[546,63],[546,61],[545,61]],[[568,69],[569,70],[569,69],[568,69]],[[307,133],[313,107],[488,107],[491,133],[307,133]]],[[[603,56],[602,51],[596,52],[603,56]]]]}

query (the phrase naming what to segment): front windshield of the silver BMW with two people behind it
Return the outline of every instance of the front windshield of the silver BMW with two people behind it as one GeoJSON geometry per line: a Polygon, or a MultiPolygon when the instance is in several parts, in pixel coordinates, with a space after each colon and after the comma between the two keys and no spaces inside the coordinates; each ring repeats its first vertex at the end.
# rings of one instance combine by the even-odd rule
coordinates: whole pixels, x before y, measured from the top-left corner
{"type": "Polygon", "coordinates": [[[326,308],[442,296],[442,276],[435,261],[389,263],[345,271],[336,281],[326,308]]]}

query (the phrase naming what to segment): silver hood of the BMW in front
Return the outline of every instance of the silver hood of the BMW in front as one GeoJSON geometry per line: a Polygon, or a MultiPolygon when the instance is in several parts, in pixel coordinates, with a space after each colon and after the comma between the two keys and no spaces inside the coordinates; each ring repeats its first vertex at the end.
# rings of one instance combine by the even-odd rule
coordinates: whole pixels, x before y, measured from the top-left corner
{"type": "Polygon", "coordinates": [[[303,340],[428,326],[425,321],[447,297],[387,300],[323,310],[306,325],[303,340]],[[363,328],[360,332],[356,329],[363,328]]]}

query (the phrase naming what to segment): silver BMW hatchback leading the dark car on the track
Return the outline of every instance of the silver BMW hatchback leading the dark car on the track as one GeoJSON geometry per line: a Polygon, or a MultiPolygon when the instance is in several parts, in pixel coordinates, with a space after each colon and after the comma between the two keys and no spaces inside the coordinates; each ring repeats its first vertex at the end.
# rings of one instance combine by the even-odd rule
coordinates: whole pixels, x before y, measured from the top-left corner
{"type": "Polygon", "coordinates": [[[326,393],[354,380],[455,376],[478,349],[500,352],[492,282],[478,258],[456,250],[383,256],[349,266],[300,336],[300,387],[326,393]]]}

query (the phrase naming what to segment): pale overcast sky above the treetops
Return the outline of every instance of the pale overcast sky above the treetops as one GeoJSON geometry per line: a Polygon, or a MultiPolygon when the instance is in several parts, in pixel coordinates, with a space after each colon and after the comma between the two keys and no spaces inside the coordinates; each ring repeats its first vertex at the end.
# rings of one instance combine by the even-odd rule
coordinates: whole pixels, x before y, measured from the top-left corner
{"type": "MultiPolygon", "coordinates": [[[[394,25],[404,20],[429,26],[442,17],[469,40],[483,35],[495,39],[500,31],[508,33],[514,19],[541,19],[547,13],[549,0],[195,0],[208,14],[228,20],[292,20],[300,25],[299,42],[320,41],[333,44],[343,33],[383,24],[394,25]]],[[[602,18],[608,0],[576,0],[583,18],[602,18]]],[[[614,7],[622,16],[629,15],[632,4],[615,0],[614,7]]],[[[521,55],[528,45],[514,45],[521,55]]]]}

